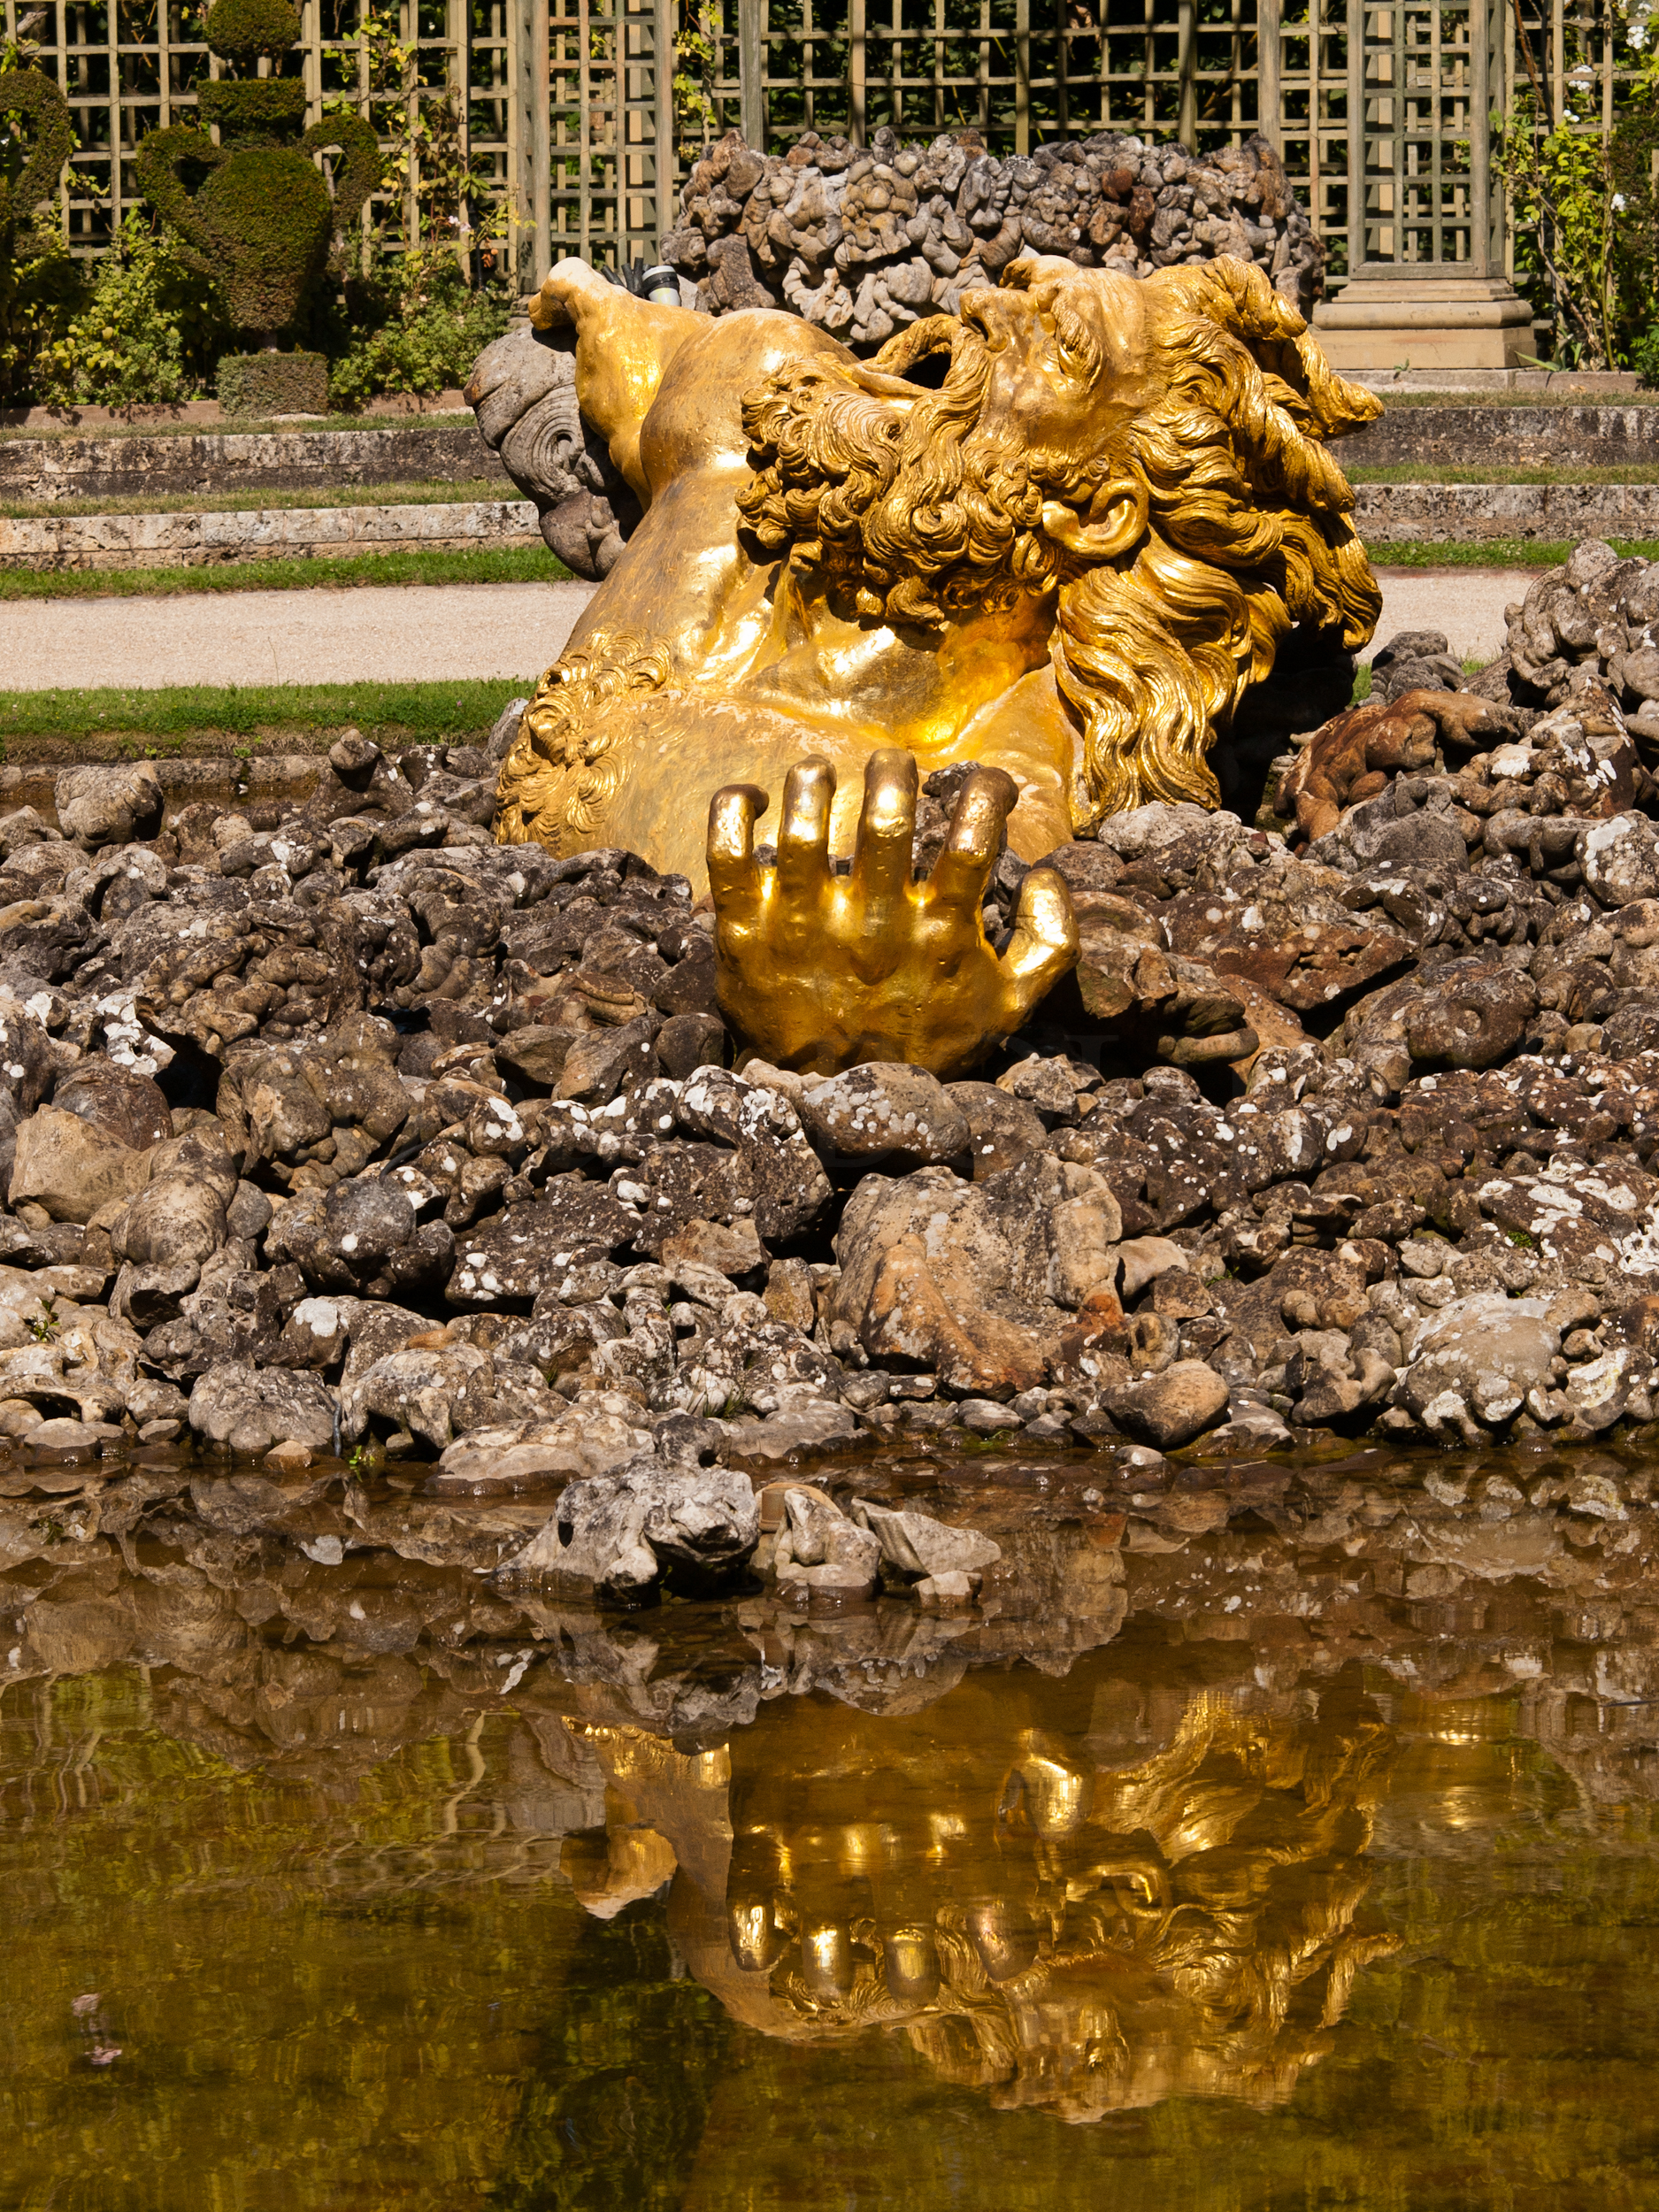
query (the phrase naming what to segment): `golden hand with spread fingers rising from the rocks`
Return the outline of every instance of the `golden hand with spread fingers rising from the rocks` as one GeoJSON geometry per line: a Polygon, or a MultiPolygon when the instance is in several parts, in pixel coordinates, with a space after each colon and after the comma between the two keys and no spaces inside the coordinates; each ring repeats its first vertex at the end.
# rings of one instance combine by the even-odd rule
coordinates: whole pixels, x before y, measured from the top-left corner
{"type": "Polygon", "coordinates": [[[836,772],[812,757],[783,783],[779,856],[754,858],[768,794],[734,783],[708,810],[708,880],[721,1011],[774,1066],[836,1075],[860,1060],[907,1060],[964,1075],[1011,1035],[1077,958],[1064,878],[1035,867],[1002,958],[980,900],[1020,792],[975,768],[933,874],[911,880],[916,757],[883,750],[865,770],[852,874],[830,863],[836,772]]]}

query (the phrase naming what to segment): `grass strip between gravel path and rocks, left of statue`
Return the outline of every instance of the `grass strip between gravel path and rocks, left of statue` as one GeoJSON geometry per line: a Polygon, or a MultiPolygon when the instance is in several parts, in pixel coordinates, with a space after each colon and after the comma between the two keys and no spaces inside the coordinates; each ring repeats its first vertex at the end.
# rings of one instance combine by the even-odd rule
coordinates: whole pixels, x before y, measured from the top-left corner
{"type": "Polygon", "coordinates": [[[383,745],[473,743],[535,677],[489,684],[250,684],[0,692],[13,761],[325,752],[341,730],[383,745]]]}

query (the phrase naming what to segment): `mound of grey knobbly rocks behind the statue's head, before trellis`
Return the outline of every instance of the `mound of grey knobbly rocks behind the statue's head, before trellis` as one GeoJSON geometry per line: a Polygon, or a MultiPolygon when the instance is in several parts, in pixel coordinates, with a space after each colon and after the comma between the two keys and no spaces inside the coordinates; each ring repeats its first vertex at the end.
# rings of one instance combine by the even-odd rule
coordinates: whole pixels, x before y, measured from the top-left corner
{"type": "Polygon", "coordinates": [[[847,345],[956,314],[1022,252],[1148,276],[1181,261],[1254,261],[1298,312],[1325,248],[1263,137],[1214,155],[1102,131],[1002,161],[975,131],[863,148],[807,131],[761,155],[732,131],[697,164],[664,261],[712,314],[792,307],[847,345]]]}

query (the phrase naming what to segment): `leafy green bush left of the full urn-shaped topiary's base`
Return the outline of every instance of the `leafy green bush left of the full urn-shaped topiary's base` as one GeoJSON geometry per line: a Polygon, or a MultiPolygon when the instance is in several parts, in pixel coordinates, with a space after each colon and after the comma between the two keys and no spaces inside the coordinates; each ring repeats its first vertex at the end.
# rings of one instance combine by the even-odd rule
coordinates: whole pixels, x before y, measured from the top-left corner
{"type": "Polygon", "coordinates": [[[204,276],[137,212],[93,268],[91,296],[35,354],[38,398],[60,407],[195,398],[230,334],[204,276]]]}

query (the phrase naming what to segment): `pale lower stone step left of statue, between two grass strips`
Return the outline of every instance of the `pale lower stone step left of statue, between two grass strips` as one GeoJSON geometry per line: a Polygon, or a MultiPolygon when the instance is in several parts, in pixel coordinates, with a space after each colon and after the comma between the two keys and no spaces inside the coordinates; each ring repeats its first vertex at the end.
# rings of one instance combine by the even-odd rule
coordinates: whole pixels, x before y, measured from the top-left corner
{"type": "Polygon", "coordinates": [[[259,507],[248,513],[0,518],[0,568],[201,568],[232,560],[540,546],[529,500],[259,507]]]}

